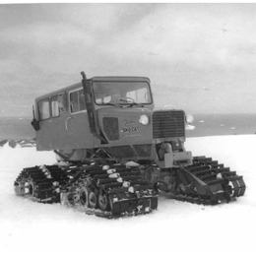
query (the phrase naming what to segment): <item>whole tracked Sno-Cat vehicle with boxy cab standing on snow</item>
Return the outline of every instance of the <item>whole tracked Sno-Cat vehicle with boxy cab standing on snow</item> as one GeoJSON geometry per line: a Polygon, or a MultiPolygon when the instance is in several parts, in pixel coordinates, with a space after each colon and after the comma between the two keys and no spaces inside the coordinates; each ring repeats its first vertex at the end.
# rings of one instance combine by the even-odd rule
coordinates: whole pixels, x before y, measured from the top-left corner
{"type": "Polygon", "coordinates": [[[144,77],[94,77],[35,98],[37,151],[58,162],[24,168],[16,194],[115,217],[150,213],[162,193],[215,205],[245,192],[242,176],[184,148],[186,114],[155,109],[144,77]]]}

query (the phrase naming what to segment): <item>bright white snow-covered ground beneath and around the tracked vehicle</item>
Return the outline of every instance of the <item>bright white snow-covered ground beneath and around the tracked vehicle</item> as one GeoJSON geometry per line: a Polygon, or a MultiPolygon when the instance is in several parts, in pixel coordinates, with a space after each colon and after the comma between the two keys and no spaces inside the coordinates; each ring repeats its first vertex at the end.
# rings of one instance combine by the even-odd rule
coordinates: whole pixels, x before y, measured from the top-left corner
{"type": "Polygon", "coordinates": [[[13,183],[22,168],[54,163],[55,156],[34,148],[0,148],[1,255],[253,254],[256,135],[190,138],[185,146],[194,156],[212,157],[243,175],[245,196],[218,206],[160,198],[159,210],[150,215],[105,220],[16,197],[13,183]]]}

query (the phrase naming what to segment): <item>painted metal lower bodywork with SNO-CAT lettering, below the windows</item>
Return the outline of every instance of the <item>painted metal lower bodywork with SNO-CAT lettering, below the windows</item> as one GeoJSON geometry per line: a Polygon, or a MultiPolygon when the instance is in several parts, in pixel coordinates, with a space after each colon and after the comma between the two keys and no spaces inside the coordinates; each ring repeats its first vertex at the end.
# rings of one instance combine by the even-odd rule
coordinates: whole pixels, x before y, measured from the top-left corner
{"type": "MultiPolygon", "coordinates": [[[[90,132],[87,111],[72,114],[69,111],[59,117],[40,121],[40,130],[36,132],[37,150],[67,150],[121,147],[130,145],[155,145],[164,141],[175,141],[180,137],[153,137],[153,114],[149,108],[106,107],[97,109],[99,128],[107,139],[102,143],[90,132]],[[149,124],[139,122],[141,115],[149,116],[149,124]],[[109,138],[104,130],[104,118],[116,118],[118,137],[109,138]]],[[[185,139],[185,138],[184,138],[185,139]]]]}

